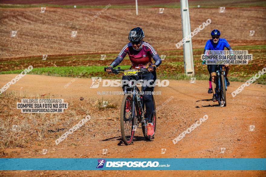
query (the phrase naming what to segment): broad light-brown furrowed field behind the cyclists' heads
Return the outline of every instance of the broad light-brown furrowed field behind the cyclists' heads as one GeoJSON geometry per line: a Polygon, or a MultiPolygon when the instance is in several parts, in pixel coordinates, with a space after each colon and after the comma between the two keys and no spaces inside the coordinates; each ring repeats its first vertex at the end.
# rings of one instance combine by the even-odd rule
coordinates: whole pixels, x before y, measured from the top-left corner
{"type": "MultiPolygon", "coordinates": [[[[93,21],[91,18],[101,8],[62,9],[2,8],[0,9],[0,58],[42,56],[54,54],[79,54],[119,52],[128,43],[128,32],[140,26],[144,40],[156,50],[177,50],[175,44],[182,40],[179,8],[141,8],[138,17],[135,9],[109,8],[93,21]],[[17,37],[10,32],[17,30],[17,37]],[[77,37],[70,37],[77,31],[77,37]]],[[[193,48],[204,48],[210,31],[217,28],[234,49],[240,45],[265,44],[266,8],[190,8],[192,31],[211,19],[212,23],[192,38],[193,48]],[[249,36],[250,30],[255,30],[249,36]]],[[[178,50],[182,50],[180,47],[178,50]]]]}

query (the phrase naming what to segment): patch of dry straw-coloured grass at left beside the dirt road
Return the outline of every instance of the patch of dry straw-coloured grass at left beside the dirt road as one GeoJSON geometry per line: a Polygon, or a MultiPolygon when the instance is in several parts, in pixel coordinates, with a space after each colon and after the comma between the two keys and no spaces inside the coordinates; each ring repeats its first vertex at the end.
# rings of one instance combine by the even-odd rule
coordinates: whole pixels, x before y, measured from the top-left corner
{"type": "MultiPolygon", "coordinates": [[[[77,130],[79,133],[70,135],[68,139],[71,139],[72,136],[87,136],[91,134],[90,131],[100,125],[99,119],[102,119],[102,115],[105,115],[104,112],[109,111],[110,115],[114,115],[112,108],[117,107],[111,101],[108,102],[106,107],[99,107],[100,100],[96,101],[95,105],[92,105],[90,100],[87,100],[88,103],[82,102],[83,105],[68,101],[69,108],[62,114],[31,114],[21,113],[19,109],[16,109],[15,103],[20,102],[21,98],[39,98],[39,96],[27,95],[26,93],[18,94],[15,91],[5,92],[0,95],[0,149],[2,149],[0,156],[6,155],[6,148],[53,146],[54,144],[50,140],[52,142],[55,141],[59,136],[85,118],[86,115],[90,115],[91,120],[89,123],[79,128],[77,130]],[[15,130],[12,130],[12,125],[17,125],[15,130]],[[58,128],[64,129],[63,131],[56,131],[58,128]],[[48,132],[48,130],[53,131],[48,132]]],[[[68,145],[76,146],[73,143],[68,145]]]]}

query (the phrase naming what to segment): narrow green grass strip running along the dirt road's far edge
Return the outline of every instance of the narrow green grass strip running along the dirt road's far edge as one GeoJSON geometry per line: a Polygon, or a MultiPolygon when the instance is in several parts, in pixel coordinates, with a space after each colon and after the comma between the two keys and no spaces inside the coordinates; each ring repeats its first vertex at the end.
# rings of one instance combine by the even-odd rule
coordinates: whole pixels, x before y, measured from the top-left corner
{"type": "MultiPolygon", "coordinates": [[[[180,62],[183,66],[183,63],[180,62]]],[[[121,69],[127,70],[131,65],[120,65],[121,69]]],[[[30,75],[44,75],[44,76],[55,76],[55,77],[78,77],[78,78],[91,78],[91,77],[103,77],[105,79],[119,79],[120,75],[109,75],[103,70],[104,66],[62,66],[62,67],[46,67],[46,68],[33,68],[30,75]],[[86,73],[81,73],[81,71],[88,71],[86,73]]],[[[4,74],[19,74],[21,70],[13,71],[0,71],[0,76],[4,74]]],[[[234,71],[231,73],[230,81],[245,82],[248,80],[254,72],[246,74],[243,76],[242,73],[234,71]]],[[[206,73],[196,72],[193,77],[197,80],[208,80],[209,75],[206,73]]],[[[176,73],[164,72],[164,70],[157,73],[157,78],[168,79],[168,80],[190,80],[191,77],[187,76],[182,72],[182,70],[176,73]]],[[[256,81],[257,84],[266,85],[266,75],[263,75],[260,80],[256,81]]]]}

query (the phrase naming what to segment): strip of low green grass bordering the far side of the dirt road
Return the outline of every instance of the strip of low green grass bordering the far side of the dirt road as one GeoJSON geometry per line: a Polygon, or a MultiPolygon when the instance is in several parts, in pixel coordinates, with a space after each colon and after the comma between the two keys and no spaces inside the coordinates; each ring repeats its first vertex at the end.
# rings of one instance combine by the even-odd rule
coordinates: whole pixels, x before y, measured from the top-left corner
{"type": "MultiPolygon", "coordinates": [[[[121,79],[122,74],[107,74],[104,72],[105,66],[63,66],[63,67],[47,67],[47,68],[33,68],[31,72],[28,74],[38,74],[38,75],[47,75],[47,76],[60,76],[60,77],[76,77],[78,74],[86,70],[84,74],[81,75],[83,78],[90,77],[103,77],[110,79],[121,79]]],[[[121,69],[128,69],[130,65],[120,65],[121,69]]],[[[180,70],[174,69],[174,71],[169,70],[169,68],[183,68],[183,62],[173,62],[168,63],[162,67],[163,70],[158,68],[157,70],[157,78],[158,79],[172,79],[172,80],[190,80],[191,77],[187,76],[180,70]],[[168,68],[168,69],[165,69],[168,68]]],[[[206,67],[206,66],[203,66],[206,67]]],[[[117,68],[117,67],[116,67],[117,68]]],[[[14,71],[1,71],[0,74],[19,74],[22,70],[14,70],[14,71]]],[[[194,77],[197,80],[209,80],[208,71],[199,73],[197,72],[194,77]]],[[[245,82],[256,73],[253,73],[251,76],[234,76],[234,74],[230,74],[230,81],[237,82],[245,82]]],[[[266,84],[266,74],[261,75],[261,77],[255,81],[258,84],[266,84]]]]}

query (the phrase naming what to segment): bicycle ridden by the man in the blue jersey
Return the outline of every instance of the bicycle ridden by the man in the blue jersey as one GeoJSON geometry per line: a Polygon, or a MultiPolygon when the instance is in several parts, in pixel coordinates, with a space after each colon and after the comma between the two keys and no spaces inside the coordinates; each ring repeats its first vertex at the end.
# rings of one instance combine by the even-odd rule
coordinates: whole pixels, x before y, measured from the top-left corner
{"type": "Polygon", "coordinates": [[[219,106],[226,106],[226,81],[225,81],[225,71],[222,70],[222,65],[218,65],[218,70],[216,71],[217,84],[216,84],[216,98],[218,99],[219,106]]]}

